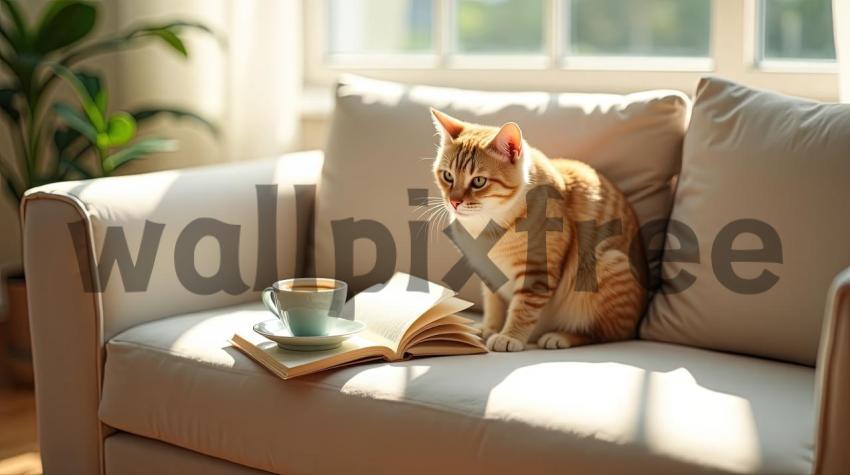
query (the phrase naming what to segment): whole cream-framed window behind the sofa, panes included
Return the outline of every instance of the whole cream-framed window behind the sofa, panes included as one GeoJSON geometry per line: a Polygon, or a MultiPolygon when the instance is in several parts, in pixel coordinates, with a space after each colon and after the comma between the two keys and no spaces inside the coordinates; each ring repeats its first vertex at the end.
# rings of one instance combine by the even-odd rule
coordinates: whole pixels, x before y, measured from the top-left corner
{"type": "Polygon", "coordinates": [[[340,72],[485,89],[838,96],[830,0],[304,0],[309,86],[340,72]],[[628,74],[623,74],[628,71],[628,74]]]}

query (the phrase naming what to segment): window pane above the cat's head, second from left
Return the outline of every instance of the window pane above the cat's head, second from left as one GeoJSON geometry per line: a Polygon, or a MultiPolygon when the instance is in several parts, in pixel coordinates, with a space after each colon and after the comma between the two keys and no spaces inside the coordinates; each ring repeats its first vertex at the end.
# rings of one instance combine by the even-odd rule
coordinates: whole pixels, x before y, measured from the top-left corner
{"type": "Polygon", "coordinates": [[[454,5],[458,52],[543,52],[543,0],[457,0],[454,5]]]}

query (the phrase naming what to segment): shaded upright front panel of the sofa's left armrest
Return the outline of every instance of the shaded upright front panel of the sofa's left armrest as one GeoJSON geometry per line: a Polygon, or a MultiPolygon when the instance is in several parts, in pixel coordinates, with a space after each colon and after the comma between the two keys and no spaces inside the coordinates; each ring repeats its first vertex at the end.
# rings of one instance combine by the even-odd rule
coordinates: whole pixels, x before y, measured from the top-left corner
{"type": "MultiPolygon", "coordinates": [[[[45,473],[100,472],[102,341],[100,308],[83,291],[68,224],[83,219],[76,203],[30,197],[24,210],[30,333],[45,473]]],[[[89,250],[81,249],[89,254],[89,250]]]]}

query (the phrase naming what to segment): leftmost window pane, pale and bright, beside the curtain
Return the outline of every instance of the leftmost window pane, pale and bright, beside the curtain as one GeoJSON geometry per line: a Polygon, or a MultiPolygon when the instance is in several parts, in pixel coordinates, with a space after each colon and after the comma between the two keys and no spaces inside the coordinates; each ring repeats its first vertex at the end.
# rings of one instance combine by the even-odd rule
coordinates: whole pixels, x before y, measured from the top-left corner
{"type": "Polygon", "coordinates": [[[433,48],[432,0],[331,0],[328,4],[332,53],[423,53],[433,48]]]}

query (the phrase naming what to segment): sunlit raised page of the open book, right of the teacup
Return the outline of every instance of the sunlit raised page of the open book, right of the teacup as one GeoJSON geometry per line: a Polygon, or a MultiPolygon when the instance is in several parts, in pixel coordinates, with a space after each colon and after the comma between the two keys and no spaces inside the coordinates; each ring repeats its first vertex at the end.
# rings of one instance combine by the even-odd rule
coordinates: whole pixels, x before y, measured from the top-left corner
{"type": "Polygon", "coordinates": [[[366,323],[370,333],[397,347],[419,317],[454,294],[433,282],[397,272],[386,284],[355,295],[345,304],[343,315],[366,323]]]}

